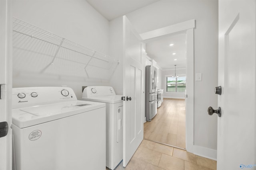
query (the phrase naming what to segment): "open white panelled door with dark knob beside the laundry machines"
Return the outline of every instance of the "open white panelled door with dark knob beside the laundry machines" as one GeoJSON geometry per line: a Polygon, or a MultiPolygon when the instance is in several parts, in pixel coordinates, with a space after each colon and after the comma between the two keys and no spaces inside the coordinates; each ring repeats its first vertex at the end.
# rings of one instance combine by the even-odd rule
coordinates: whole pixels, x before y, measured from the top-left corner
{"type": "Polygon", "coordinates": [[[144,113],[144,57],[140,35],[132,28],[130,21],[123,16],[124,43],[124,140],[123,166],[125,167],[143,139],[144,113]],[[126,100],[128,98],[128,100],[126,100]],[[130,98],[130,99],[129,99],[130,98]]]}

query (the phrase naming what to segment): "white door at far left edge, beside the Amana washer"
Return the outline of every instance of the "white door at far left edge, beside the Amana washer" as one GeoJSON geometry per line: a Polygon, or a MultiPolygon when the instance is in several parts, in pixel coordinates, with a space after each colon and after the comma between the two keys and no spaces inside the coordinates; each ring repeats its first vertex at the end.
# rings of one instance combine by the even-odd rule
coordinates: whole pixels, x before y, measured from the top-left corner
{"type": "Polygon", "coordinates": [[[10,0],[0,0],[0,170],[12,169],[12,130],[10,128],[12,124],[11,5],[12,1],[10,0]]]}

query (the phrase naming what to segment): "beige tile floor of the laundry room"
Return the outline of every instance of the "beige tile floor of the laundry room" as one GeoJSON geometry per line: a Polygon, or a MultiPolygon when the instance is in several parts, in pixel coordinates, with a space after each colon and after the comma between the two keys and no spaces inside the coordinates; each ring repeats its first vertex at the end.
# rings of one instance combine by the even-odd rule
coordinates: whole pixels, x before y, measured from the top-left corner
{"type": "Polygon", "coordinates": [[[215,160],[143,140],[126,168],[121,162],[116,170],[216,170],[216,166],[215,160]]]}

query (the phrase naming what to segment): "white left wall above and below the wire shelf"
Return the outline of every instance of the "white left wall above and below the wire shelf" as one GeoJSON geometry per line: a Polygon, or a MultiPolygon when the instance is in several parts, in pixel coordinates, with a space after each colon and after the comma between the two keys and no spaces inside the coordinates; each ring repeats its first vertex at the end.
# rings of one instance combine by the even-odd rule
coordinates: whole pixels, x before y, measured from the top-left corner
{"type": "MultiPolygon", "coordinates": [[[[13,16],[109,55],[109,22],[86,0],[13,0],[13,16]]],[[[13,76],[13,87],[62,85],[73,88],[81,99],[82,86],[108,85],[108,81],[22,72],[13,76]]]]}

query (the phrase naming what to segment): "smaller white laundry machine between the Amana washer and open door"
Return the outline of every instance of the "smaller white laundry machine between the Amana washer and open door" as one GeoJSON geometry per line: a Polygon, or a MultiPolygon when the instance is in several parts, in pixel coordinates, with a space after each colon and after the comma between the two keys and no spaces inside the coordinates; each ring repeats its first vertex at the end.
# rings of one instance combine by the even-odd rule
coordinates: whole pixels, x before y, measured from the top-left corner
{"type": "Polygon", "coordinates": [[[123,159],[123,101],[110,86],[84,88],[83,100],[106,103],[106,167],[110,169],[123,159]]]}

